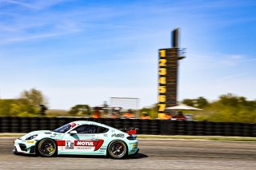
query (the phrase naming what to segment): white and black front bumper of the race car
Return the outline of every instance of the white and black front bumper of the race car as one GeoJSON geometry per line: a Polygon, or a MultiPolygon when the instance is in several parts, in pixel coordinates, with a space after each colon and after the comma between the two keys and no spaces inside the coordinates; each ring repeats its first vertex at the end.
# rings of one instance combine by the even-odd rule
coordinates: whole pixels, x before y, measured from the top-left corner
{"type": "Polygon", "coordinates": [[[35,154],[36,140],[14,140],[14,153],[35,154]]]}

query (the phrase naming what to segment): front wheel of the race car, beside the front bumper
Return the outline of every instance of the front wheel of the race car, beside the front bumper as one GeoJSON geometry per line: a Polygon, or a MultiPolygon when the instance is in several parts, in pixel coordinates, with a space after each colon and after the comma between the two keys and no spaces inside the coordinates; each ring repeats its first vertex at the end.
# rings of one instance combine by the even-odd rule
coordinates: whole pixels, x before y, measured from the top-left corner
{"type": "Polygon", "coordinates": [[[43,157],[56,156],[57,154],[57,144],[51,139],[40,140],[37,148],[39,155],[43,157]]]}

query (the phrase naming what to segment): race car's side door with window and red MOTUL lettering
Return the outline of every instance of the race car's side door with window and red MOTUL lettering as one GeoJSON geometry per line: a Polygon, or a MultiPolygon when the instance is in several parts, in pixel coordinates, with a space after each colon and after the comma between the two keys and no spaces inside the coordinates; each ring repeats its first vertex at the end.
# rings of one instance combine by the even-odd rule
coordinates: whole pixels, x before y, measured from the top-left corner
{"type": "MultiPolygon", "coordinates": [[[[98,126],[80,125],[74,128],[76,134],[66,133],[63,136],[65,146],[62,146],[62,152],[66,154],[94,155],[101,147],[104,140],[99,139],[98,126]]],[[[102,138],[102,137],[101,137],[102,138]]]]}

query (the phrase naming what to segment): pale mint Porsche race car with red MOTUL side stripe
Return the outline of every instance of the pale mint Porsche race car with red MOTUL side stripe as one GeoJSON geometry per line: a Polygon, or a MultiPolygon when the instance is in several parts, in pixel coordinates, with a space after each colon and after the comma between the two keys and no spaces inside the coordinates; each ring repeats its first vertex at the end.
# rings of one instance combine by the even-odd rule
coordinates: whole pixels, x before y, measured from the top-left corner
{"type": "Polygon", "coordinates": [[[122,159],[138,153],[137,128],[117,129],[94,121],[74,121],[54,131],[29,132],[14,140],[14,153],[94,155],[122,159]]]}

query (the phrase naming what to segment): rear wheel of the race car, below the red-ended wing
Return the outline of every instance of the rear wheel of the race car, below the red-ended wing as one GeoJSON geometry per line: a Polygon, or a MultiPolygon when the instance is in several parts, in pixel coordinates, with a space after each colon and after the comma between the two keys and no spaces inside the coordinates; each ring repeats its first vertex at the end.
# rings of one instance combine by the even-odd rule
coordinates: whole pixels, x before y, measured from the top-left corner
{"type": "Polygon", "coordinates": [[[127,146],[122,140],[113,140],[110,142],[107,152],[113,159],[122,159],[127,156],[127,146]]]}

